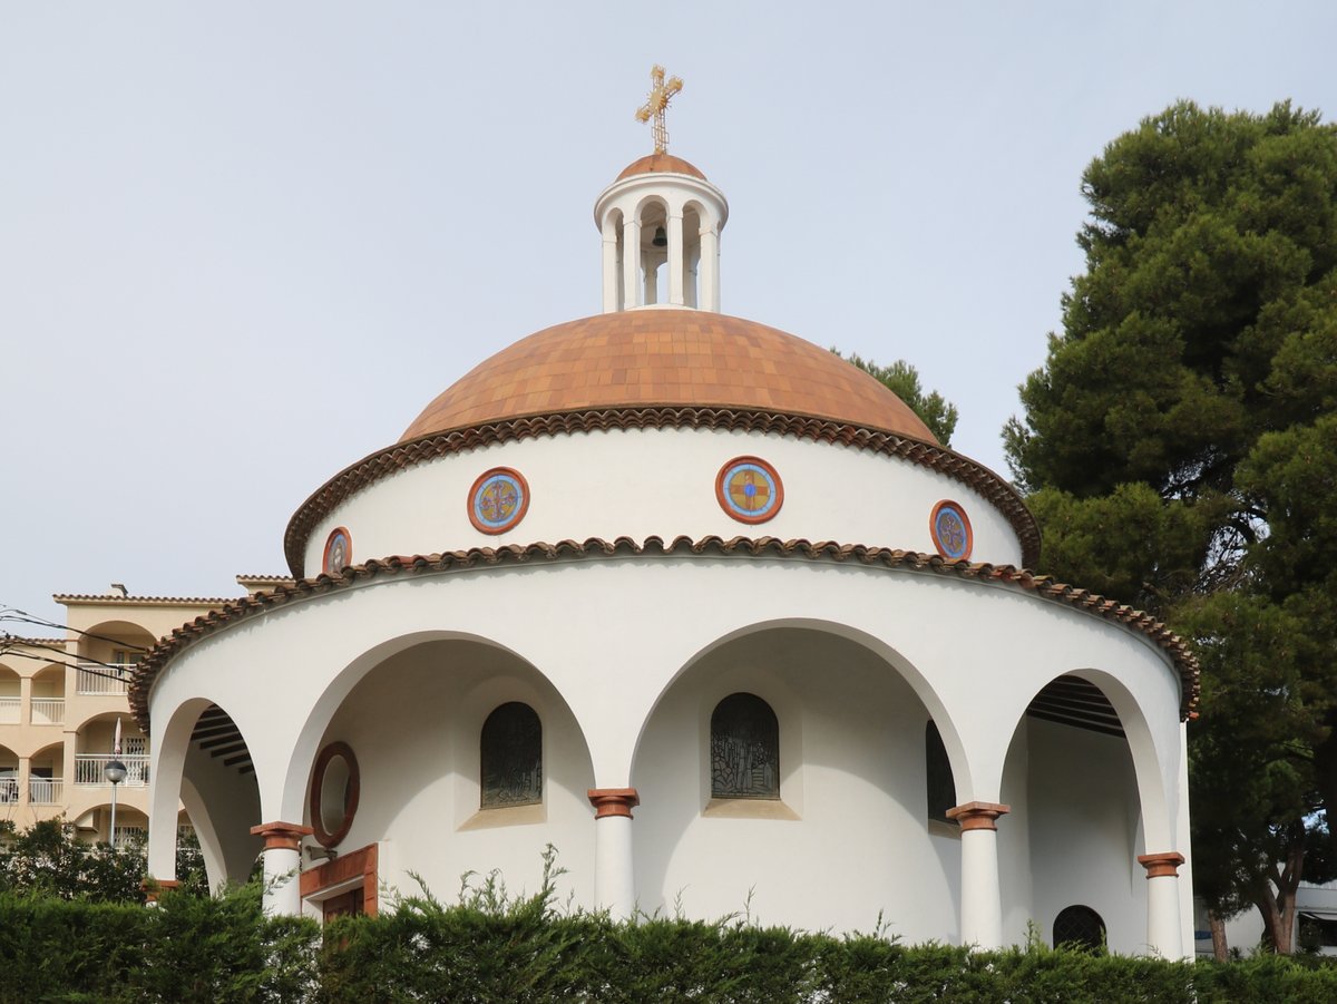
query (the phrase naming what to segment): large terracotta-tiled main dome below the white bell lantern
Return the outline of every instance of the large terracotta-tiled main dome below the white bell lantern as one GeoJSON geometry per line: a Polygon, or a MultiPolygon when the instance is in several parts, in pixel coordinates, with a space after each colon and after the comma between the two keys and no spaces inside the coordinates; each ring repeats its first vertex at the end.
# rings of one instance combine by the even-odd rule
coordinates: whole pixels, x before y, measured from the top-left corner
{"type": "Polygon", "coordinates": [[[624,310],[548,328],[439,396],[401,443],[505,418],[602,408],[742,408],[937,443],[896,394],[793,334],[705,310],[624,310]]]}

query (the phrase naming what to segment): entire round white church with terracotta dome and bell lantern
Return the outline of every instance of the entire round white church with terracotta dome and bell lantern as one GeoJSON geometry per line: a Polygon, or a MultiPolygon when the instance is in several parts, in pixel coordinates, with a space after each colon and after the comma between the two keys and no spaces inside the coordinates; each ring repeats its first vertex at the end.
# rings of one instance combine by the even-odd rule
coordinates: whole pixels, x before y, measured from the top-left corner
{"type": "Polygon", "coordinates": [[[722,314],[694,166],[594,215],[600,314],[463,376],[298,508],[294,582],[139,664],[152,876],[179,802],[279,912],[532,892],[552,845],[619,917],[1191,955],[1183,643],[1025,571],[1021,499],[880,382],[722,314]]]}

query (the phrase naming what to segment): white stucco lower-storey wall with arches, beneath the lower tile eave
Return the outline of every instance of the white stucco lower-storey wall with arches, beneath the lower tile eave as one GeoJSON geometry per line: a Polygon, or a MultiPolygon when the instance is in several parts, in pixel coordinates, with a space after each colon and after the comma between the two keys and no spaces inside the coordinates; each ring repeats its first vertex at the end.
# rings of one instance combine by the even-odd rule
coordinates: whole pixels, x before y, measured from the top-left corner
{"type": "MultiPolygon", "coordinates": [[[[1098,682],[1124,721],[1147,848],[1187,853],[1174,842],[1179,680],[1146,638],[1016,588],[804,559],[537,561],[384,576],[273,608],[191,646],[159,676],[154,797],[175,807],[189,727],[172,731],[174,709],[213,701],[249,745],[263,821],[305,817],[325,739],[362,747],[364,807],[346,846],[378,841],[381,876],[401,888],[410,868],[444,896],[465,869],[501,868],[529,888],[535,849],[551,840],[571,868],[576,901],[588,902],[602,824],[582,803],[583,787],[635,785],[635,874],[646,908],[671,908],[681,892],[690,916],[713,917],[741,909],[754,888],[766,922],[869,929],[884,910],[892,930],[951,940],[959,842],[932,836],[923,818],[924,722],[931,715],[943,733],[960,802],[1007,801],[1003,763],[1025,706],[1068,672],[1098,682]],[[705,814],[703,722],[717,695],[735,688],[774,695],[787,737],[782,798],[798,820],[705,814]],[[496,703],[525,698],[540,713],[551,757],[545,820],[468,829],[477,729],[496,703]]],[[[1025,786],[1035,803],[1023,802],[999,826],[1028,834],[1024,854],[1011,860],[1039,888],[1046,874],[1075,874],[1086,858],[1055,841],[1046,870],[1038,866],[1034,849],[1051,849],[1035,791],[1063,783],[1035,781],[1035,757],[1029,750],[1025,786]]],[[[1110,770],[1096,765],[1091,775],[1110,770]]],[[[1107,781],[1127,783],[1114,774],[1107,781]]],[[[1102,786],[1092,798],[1096,791],[1107,794],[1102,786]]],[[[1094,810],[1102,832],[1115,829],[1110,820],[1126,811],[1128,795],[1110,798],[1094,810]]],[[[1127,828],[1116,829],[1098,845],[1126,876],[1127,828]]],[[[155,822],[155,869],[167,860],[166,842],[155,822]]],[[[1013,878],[1008,860],[1004,890],[1013,878]]],[[[1143,893],[1135,889],[1126,885],[1126,906],[1108,908],[1120,924],[1136,910],[1143,893]]],[[[1047,904],[1025,896],[1028,913],[1047,904]]]]}

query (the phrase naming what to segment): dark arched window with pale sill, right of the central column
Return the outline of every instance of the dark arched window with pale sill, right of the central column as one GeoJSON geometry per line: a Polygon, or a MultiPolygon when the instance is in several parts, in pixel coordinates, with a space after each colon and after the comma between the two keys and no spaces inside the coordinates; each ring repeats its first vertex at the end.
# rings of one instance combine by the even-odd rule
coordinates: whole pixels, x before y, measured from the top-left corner
{"type": "Polygon", "coordinates": [[[710,797],[779,798],[779,722],[755,694],[730,694],[710,717],[710,797]]]}

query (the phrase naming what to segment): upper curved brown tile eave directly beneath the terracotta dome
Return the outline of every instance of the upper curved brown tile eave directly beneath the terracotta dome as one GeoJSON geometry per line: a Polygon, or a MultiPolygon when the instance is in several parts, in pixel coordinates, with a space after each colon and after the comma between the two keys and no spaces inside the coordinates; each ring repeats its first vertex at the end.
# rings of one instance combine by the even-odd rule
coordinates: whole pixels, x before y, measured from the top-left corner
{"type": "Polygon", "coordinates": [[[481,425],[465,425],[422,436],[370,453],[344,468],[316,489],[287,523],[283,556],[293,576],[306,574],[305,549],[316,524],[354,492],[397,471],[497,443],[610,429],[693,428],[762,432],[894,456],[920,464],[979,492],[1016,531],[1021,564],[1034,567],[1040,557],[1040,527],[1007,480],[945,447],[886,429],[858,426],[828,418],[739,408],[607,408],[556,414],[535,414],[481,425]]]}

